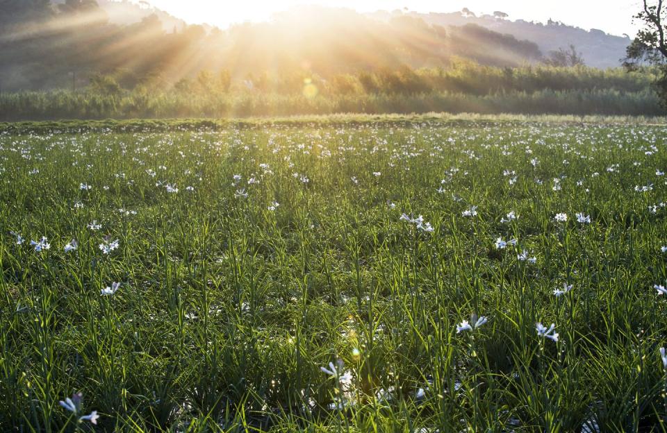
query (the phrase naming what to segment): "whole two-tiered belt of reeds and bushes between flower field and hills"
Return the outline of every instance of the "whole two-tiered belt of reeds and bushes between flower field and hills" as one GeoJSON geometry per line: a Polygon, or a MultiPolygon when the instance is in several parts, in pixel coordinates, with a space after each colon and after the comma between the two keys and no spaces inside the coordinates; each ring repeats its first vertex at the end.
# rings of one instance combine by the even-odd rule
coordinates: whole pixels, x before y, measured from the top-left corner
{"type": "Polygon", "coordinates": [[[483,67],[461,61],[448,69],[383,69],[324,79],[304,71],[232,80],[201,71],[173,87],[125,89],[118,75],[95,75],[83,90],[0,95],[0,120],[247,117],[340,112],[486,114],[663,113],[650,86],[652,69],[483,67]]]}

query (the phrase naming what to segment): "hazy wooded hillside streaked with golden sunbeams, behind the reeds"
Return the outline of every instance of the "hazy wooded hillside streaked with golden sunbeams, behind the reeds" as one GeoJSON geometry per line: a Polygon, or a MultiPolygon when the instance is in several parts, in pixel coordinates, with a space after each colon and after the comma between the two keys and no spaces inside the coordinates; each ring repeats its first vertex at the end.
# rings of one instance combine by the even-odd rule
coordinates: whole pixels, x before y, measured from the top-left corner
{"type": "Polygon", "coordinates": [[[122,87],[169,86],[201,71],[302,80],[303,75],[480,65],[534,65],[573,43],[588,65],[618,65],[627,40],[559,24],[453,14],[361,14],[302,7],[271,22],[226,30],[187,25],[149,3],[127,0],[0,0],[0,90],[88,85],[113,74],[122,87]],[[341,37],[344,35],[344,37],[341,37]],[[535,41],[535,42],[534,42],[535,41]]]}

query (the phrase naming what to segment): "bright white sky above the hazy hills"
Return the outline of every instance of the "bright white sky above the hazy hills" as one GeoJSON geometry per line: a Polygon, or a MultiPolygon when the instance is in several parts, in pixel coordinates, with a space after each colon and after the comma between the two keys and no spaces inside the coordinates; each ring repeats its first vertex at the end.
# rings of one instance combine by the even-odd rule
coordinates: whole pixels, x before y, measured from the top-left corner
{"type": "Polygon", "coordinates": [[[509,19],[547,22],[561,21],[570,26],[599,28],[613,35],[636,34],[632,15],[639,0],[148,0],[156,8],[185,19],[190,24],[227,27],[240,22],[270,19],[280,12],[302,4],[338,6],[359,12],[395,10],[407,7],[416,12],[454,12],[464,7],[472,12],[501,10],[509,19]]]}

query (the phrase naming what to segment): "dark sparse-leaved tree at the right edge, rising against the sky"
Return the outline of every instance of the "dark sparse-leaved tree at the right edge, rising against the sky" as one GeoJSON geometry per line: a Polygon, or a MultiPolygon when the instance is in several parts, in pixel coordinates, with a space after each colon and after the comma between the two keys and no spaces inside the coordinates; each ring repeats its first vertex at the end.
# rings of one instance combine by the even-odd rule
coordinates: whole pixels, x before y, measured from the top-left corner
{"type": "Polygon", "coordinates": [[[633,71],[643,65],[654,65],[660,71],[654,87],[667,108],[667,26],[664,18],[667,10],[664,0],[657,3],[643,0],[643,8],[634,16],[634,22],[642,24],[637,37],[627,47],[623,65],[633,71]]]}

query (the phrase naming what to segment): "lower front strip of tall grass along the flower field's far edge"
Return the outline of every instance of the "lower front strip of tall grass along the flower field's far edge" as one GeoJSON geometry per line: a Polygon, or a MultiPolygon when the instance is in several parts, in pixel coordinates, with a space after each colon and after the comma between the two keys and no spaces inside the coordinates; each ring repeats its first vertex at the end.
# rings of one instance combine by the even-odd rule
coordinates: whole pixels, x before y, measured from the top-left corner
{"type": "Polygon", "coordinates": [[[125,95],[67,91],[0,94],[0,121],[54,119],[228,118],[308,114],[574,114],[660,116],[658,97],[641,92],[554,91],[423,94],[156,94],[125,95]]]}

